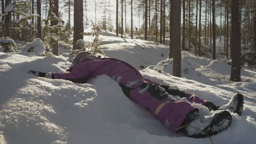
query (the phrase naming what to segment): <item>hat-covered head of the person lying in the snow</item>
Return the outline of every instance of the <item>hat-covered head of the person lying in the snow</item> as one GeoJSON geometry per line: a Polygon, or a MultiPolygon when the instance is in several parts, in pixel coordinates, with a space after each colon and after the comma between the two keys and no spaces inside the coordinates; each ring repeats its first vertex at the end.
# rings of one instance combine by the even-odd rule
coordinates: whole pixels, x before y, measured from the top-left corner
{"type": "Polygon", "coordinates": [[[96,56],[92,55],[90,52],[87,51],[81,51],[77,53],[77,56],[72,60],[72,65],[81,63],[83,61],[93,61],[97,59],[96,56]]]}

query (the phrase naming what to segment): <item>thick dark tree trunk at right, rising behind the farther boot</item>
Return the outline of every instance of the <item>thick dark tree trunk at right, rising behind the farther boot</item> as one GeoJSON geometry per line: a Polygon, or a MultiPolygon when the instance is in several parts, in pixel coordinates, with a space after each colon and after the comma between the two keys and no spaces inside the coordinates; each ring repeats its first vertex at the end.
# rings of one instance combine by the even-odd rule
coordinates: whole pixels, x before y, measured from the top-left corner
{"type": "Polygon", "coordinates": [[[241,81],[241,33],[239,0],[231,1],[231,43],[232,43],[232,65],[230,80],[241,81]]]}

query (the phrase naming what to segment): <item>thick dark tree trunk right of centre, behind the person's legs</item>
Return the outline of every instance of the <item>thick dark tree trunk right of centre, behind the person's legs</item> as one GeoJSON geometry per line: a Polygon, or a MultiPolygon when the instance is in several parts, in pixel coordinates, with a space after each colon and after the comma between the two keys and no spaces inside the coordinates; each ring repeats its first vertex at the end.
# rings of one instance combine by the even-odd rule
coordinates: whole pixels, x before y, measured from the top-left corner
{"type": "Polygon", "coordinates": [[[171,1],[170,54],[173,55],[173,76],[181,77],[181,1],[171,1]],[[173,49],[173,54],[171,51],[173,49]]]}

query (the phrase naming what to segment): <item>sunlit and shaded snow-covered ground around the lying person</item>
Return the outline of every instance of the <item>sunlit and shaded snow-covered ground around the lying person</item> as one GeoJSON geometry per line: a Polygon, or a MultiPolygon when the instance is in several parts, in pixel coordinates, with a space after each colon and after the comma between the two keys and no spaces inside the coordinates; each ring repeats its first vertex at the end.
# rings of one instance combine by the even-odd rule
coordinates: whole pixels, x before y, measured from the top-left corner
{"type": "MultiPolygon", "coordinates": [[[[182,52],[182,78],[174,77],[168,46],[103,34],[100,47],[107,57],[131,63],[156,82],[196,93],[217,105],[228,103],[234,93],[244,94],[242,116],[232,113],[231,126],[211,139],[214,143],[255,143],[255,70],[242,68],[242,82],[231,82],[227,61],[182,52]],[[164,65],[162,73],[156,69],[158,63],[164,65]]],[[[0,52],[1,144],[211,143],[208,138],[193,139],[172,133],[149,111],[127,98],[118,83],[106,75],[78,84],[27,73],[65,72],[71,65],[67,59],[66,55],[53,58],[27,52],[0,52]]],[[[195,106],[200,107],[201,113],[211,113],[205,106],[195,106]]]]}

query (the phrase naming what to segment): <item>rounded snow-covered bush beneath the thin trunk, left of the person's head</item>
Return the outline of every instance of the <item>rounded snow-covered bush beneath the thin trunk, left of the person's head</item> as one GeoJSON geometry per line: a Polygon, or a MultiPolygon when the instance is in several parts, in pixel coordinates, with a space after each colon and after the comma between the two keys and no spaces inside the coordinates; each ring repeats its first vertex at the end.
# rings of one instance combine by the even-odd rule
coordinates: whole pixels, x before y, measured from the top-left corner
{"type": "Polygon", "coordinates": [[[41,39],[34,39],[32,43],[26,43],[26,52],[35,53],[38,56],[44,55],[45,44],[41,39]]]}

